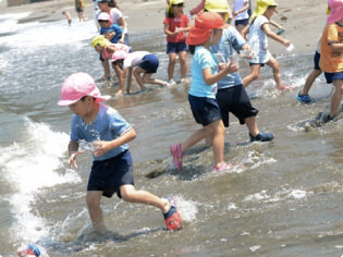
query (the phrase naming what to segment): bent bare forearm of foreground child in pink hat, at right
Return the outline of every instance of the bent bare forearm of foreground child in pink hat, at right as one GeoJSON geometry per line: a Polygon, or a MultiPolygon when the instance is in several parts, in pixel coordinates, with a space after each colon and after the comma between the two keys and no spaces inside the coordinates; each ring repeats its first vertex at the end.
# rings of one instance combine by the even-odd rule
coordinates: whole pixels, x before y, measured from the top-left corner
{"type": "Polygon", "coordinates": [[[93,144],[94,144],[95,150],[93,151],[93,154],[96,157],[102,156],[107,151],[133,140],[136,137],[136,135],[137,134],[135,130],[133,127],[130,127],[128,130],[124,131],[118,138],[113,140],[94,142],[93,144]]]}

